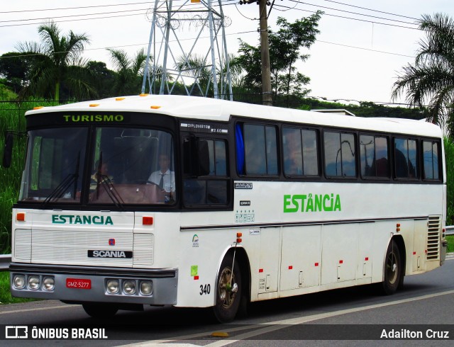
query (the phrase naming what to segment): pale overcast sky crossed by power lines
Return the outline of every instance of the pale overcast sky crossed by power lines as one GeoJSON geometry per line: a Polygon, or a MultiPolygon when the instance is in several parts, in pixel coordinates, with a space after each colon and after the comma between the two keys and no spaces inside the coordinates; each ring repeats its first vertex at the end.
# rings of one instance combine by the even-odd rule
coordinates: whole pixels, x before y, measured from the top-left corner
{"type": "MultiPolygon", "coordinates": [[[[184,1],[173,0],[174,8],[184,1]]],[[[146,52],[154,4],[153,0],[4,0],[0,10],[0,55],[17,51],[18,42],[39,42],[38,26],[52,19],[65,35],[70,30],[89,35],[91,42],[84,58],[106,62],[113,69],[106,47],[125,50],[130,57],[141,48],[146,52]]],[[[221,4],[230,23],[225,28],[229,54],[237,54],[239,38],[258,45],[259,6],[240,5],[239,0],[221,0],[221,4]]],[[[196,9],[194,6],[200,5],[187,4],[183,9],[196,9]]],[[[309,96],[345,104],[405,103],[404,97],[392,100],[392,85],[402,67],[414,63],[419,41],[425,37],[416,29],[416,20],[423,14],[454,16],[454,1],[275,0],[271,11],[268,6],[268,25],[277,30],[279,16],[292,23],[318,9],[324,11],[319,22],[321,33],[309,50],[301,50],[310,57],[298,64],[299,72],[311,79],[309,96]]],[[[200,15],[191,12],[179,16],[175,33],[184,42],[183,50],[188,51],[199,34],[199,21],[194,19],[200,15]]],[[[197,45],[208,45],[208,37],[209,30],[202,30],[197,45]]],[[[177,55],[179,48],[173,42],[172,52],[177,55]]],[[[198,46],[194,48],[199,51],[198,46]]]]}

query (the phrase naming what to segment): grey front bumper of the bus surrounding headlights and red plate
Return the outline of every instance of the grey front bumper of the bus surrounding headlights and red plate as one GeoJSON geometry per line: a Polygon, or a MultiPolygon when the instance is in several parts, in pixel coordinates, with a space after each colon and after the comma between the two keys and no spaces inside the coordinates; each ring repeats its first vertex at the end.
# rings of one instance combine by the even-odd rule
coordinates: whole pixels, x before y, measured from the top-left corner
{"type": "Polygon", "coordinates": [[[10,288],[13,297],[33,297],[38,299],[52,299],[70,302],[111,302],[121,304],[143,304],[143,305],[176,305],[177,304],[177,283],[178,270],[170,269],[135,269],[135,268],[108,268],[94,266],[55,266],[43,264],[11,263],[9,266],[10,288]],[[46,277],[55,280],[53,290],[45,290],[43,285],[32,290],[25,285],[25,288],[18,289],[13,285],[13,278],[16,275],[24,275],[27,279],[37,276],[40,281],[46,277]],[[84,280],[89,283],[89,289],[67,288],[67,279],[84,280]],[[133,280],[137,285],[140,281],[153,282],[153,293],[142,295],[140,290],[134,294],[126,294],[119,290],[118,294],[110,294],[106,290],[106,283],[109,279],[117,279],[119,283],[126,280],[133,280]]]}

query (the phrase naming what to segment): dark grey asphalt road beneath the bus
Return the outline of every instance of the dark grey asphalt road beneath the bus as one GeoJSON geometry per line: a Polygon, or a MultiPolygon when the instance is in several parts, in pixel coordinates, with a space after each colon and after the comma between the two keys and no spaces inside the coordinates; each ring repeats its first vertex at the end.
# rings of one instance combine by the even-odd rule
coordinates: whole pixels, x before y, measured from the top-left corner
{"type": "Polygon", "coordinates": [[[52,329],[69,336],[82,329],[82,337],[100,333],[109,339],[3,339],[0,345],[453,346],[453,260],[430,273],[407,276],[404,290],[392,296],[362,286],[258,302],[251,305],[248,317],[232,324],[214,322],[211,309],[146,307],[144,312],[120,311],[109,321],[98,321],[78,305],[57,301],[2,305],[0,338],[7,325],[26,326],[29,337],[35,326],[34,333],[48,337],[52,329]],[[393,333],[407,339],[389,339],[393,333]]]}

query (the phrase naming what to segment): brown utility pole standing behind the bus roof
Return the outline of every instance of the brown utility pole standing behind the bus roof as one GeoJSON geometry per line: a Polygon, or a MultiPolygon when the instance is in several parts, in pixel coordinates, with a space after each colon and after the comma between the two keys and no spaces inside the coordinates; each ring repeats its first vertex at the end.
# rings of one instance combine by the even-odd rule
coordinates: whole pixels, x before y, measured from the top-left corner
{"type": "MultiPolygon", "coordinates": [[[[268,13],[269,0],[240,0],[240,5],[259,5],[260,12],[260,58],[262,60],[262,103],[272,106],[271,71],[270,71],[270,47],[268,46],[268,13]]],[[[274,4],[274,1],[273,1],[274,4]]]]}

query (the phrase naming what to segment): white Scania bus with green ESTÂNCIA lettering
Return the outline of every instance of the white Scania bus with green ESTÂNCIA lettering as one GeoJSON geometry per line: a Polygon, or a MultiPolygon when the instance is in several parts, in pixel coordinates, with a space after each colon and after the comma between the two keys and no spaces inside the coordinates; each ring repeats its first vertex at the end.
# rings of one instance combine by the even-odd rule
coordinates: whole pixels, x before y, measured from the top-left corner
{"type": "MultiPolygon", "coordinates": [[[[11,293],[214,307],[377,283],[445,259],[439,127],[188,96],[26,113],[11,293]]],[[[11,158],[11,135],[4,161],[11,158]]]]}

